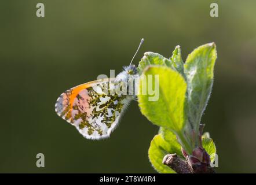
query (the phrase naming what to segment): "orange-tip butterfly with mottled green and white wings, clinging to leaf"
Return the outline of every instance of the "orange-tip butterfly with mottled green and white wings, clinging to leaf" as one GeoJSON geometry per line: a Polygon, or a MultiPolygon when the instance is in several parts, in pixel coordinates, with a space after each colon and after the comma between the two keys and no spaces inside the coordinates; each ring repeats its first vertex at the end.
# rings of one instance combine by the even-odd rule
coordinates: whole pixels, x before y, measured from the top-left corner
{"type": "MultiPolygon", "coordinates": [[[[141,39],[138,49],[143,40],[141,39]]],[[[55,104],[58,116],[74,125],[87,139],[108,138],[118,125],[130,101],[136,98],[136,95],[132,93],[116,91],[123,87],[127,88],[123,84],[129,84],[138,77],[137,68],[131,65],[131,62],[114,79],[95,80],[63,92],[55,104]]]]}

